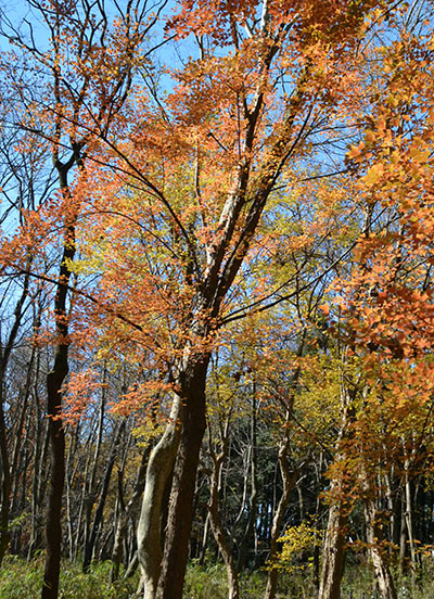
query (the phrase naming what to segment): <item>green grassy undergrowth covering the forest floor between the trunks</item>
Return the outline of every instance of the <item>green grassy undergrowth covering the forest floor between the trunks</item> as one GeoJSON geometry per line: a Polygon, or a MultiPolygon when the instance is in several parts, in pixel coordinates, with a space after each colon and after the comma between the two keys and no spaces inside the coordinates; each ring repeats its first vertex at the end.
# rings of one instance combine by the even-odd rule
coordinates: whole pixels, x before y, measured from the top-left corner
{"type": "MultiPolygon", "coordinates": [[[[78,564],[64,562],[61,577],[60,599],[132,599],[136,598],[138,573],[131,578],[110,583],[111,563],[94,564],[88,574],[82,574],[78,564]]],[[[38,599],[40,596],[43,560],[30,562],[16,557],[4,560],[0,570],[1,599],[38,599]]],[[[418,584],[408,577],[397,576],[398,599],[434,599],[434,564],[425,566],[418,584]]],[[[241,576],[241,598],[261,599],[265,590],[265,572],[241,576]]],[[[346,569],[342,584],[342,599],[380,599],[373,589],[373,578],[365,565],[353,564],[346,569]]],[[[282,575],[279,599],[312,599],[315,587],[309,573],[293,572],[282,575]]],[[[221,564],[206,568],[189,566],[184,599],[227,599],[228,588],[221,564]]]]}

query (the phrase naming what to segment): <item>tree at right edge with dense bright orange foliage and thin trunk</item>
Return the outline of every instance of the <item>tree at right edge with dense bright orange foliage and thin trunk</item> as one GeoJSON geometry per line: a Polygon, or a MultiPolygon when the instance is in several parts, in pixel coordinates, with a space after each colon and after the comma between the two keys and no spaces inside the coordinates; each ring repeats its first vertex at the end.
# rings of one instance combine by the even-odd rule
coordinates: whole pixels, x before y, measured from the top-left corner
{"type": "MultiPolygon", "coordinates": [[[[365,504],[368,544],[379,589],[385,599],[396,597],[396,590],[382,550],[381,509],[374,481],[382,475],[379,456],[383,462],[394,456],[397,464],[401,462],[401,448],[392,448],[383,435],[387,431],[393,437],[387,419],[392,418],[398,430],[406,429],[406,422],[424,411],[432,400],[431,385],[420,392],[418,403],[411,399],[419,388],[419,374],[423,372],[425,381],[432,378],[427,358],[433,341],[432,258],[425,238],[431,234],[427,199],[432,166],[427,140],[432,125],[427,105],[432,102],[432,90],[424,73],[431,68],[432,31],[425,29],[424,10],[421,3],[405,17],[398,12],[393,21],[396,39],[390,44],[384,43],[380,27],[380,48],[374,44],[371,55],[378,58],[382,86],[379,89],[375,78],[368,79],[372,101],[367,106],[362,103],[357,106],[366,111],[363,118],[359,117],[361,140],[347,155],[365,218],[353,268],[341,279],[344,301],[340,318],[344,322],[343,343],[362,362],[359,369],[362,374],[357,385],[352,386],[358,387],[357,393],[365,399],[362,410],[360,404],[349,404],[352,417],[345,420],[353,448],[347,445],[341,457],[343,463],[354,460],[355,454],[357,458],[353,468],[345,474],[341,471],[339,477],[355,476],[357,468],[363,473],[362,482],[353,484],[358,486],[356,494],[365,504]],[[414,75],[419,72],[421,79],[414,75]],[[404,82],[408,90],[405,93],[404,82]],[[385,455],[382,447],[387,447],[385,455]]],[[[335,484],[339,477],[334,479],[335,484]]],[[[344,518],[343,510],[340,513],[344,518]]],[[[343,524],[335,526],[335,534],[342,534],[343,524]]],[[[339,568],[331,566],[327,555],[324,564],[324,576],[330,565],[335,578],[329,578],[336,584],[329,590],[323,587],[321,597],[337,597],[339,568]]]]}

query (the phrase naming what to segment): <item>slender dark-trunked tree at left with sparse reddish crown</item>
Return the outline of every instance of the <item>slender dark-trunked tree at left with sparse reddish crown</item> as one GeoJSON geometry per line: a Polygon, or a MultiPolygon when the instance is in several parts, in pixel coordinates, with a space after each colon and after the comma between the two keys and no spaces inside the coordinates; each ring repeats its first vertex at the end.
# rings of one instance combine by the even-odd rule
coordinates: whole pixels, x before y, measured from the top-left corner
{"type": "MultiPolygon", "coordinates": [[[[17,48],[11,62],[20,61],[22,52],[38,76],[46,76],[48,91],[28,102],[23,90],[26,81],[14,80],[13,89],[24,99],[25,110],[18,126],[41,136],[51,145],[52,161],[58,174],[59,196],[62,206],[55,212],[62,222],[63,239],[60,250],[59,273],[54,283],[54,364],[47,377],[47,415],[52,448],[50,501],[47,517],[47,562],[43,598],[58,597],[61,558],[61,509],[65,477],[65,441],[61,413],[62,386],[68,373],[69,309],[68,291],[73,277],[72,264],[76,254],[76,224],[81,200],[68,180],[74,167],[85,175],[85,149],[91,150],[99,138],[107,135],[118,118],[128,98],[132,74],[138,67],[138,52],[149,28],[155,20],[145,18],[145,3],[129,1],[125,12],[118,11],[113,23],[104,3],[27,2],[41,17],[49,35],[49,48],[40,49],[31,25],[27,36],[5,22],[3,31],[17,48]],[[67,56],[67,58],[66,58],[67,56]],[[36,129],[36,116],[40,115],[42,128],[36,129]],[[48,117],[48,122],[47,122],[48,117]]],[[[116,7],[118,9],[118,7],[116,7]]],[[[142,58],[140,58],[142,60],[142,58]]],[[[13,74],[16,73],[14,69],[13,74]]],[[[78,177],[79,178],[79,177],[78,177]]],[[[53,206],[50,206],[53,207],[53,206]]],[[[51,217],[43,208],[40,218],[51,217]]],[[[38,227],[36,219],[33,226],[38,227]]],[[[43,222],[42,228],[46,228],[43,222]]],[[[14,240],[25,238],[24,229],[14,240]]],[[[40,235],[40,232],[39,232],[40,235]]],[[[41,240],[40,240],[41,241],[41,240]]],[[[48,240],[44,240],[46,243],[48,240]]],[[[35,247],[28,247],[29,255],[35,247]]],[[[27,276],[28,264],[16,265],[14,257],[9,267],[21,268],[27,276]]],[[[47,277],[47,273],[42,273],[47,277]]],[[[47,277],[50,279],[50,277],[47,277]]],[[[4,489],[4,494],[8,489],[4,489]]]]}

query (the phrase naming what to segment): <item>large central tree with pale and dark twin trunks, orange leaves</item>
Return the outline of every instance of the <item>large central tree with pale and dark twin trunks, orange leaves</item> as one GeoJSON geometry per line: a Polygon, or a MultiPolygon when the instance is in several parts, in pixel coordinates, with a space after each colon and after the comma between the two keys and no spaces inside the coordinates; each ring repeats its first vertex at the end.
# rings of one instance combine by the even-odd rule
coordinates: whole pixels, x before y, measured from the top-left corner
{"type": "MultiPolygon", "coordinates": [[[[296,179],[309,142],[347,100],[354,48],[375,5],[181,5],[169,26],[179,38],[197,36],[200,58],[179,71],[164,105],[139,97],[126,131],[107,140],[100,162],[122,180],[92,175],[101,200],[84,239],[104,262],[94,293],[128,315],[130,339],[152,347],[159,384],[173,390],[139,525],[145,597],[181,595],[218,329],[231,319],[230,293],[278,180],[296,179]],[[151,539],[162,555],[149,551],[151,539]]],[[[126,343],[123,324],[116,334],[126,343]]]]}

